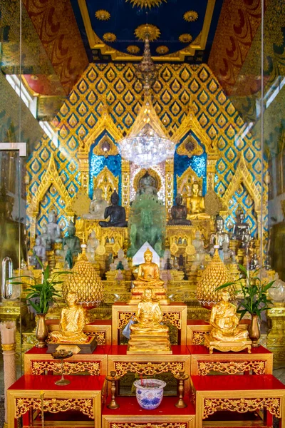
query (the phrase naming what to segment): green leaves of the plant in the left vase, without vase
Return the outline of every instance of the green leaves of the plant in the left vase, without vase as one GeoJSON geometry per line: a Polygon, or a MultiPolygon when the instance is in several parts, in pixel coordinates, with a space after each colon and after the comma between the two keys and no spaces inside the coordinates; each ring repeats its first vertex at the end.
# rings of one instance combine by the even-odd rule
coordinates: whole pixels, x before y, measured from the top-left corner
{"type": "Polygon", "coordinates": [[[69,274],[71,272],[53,272],[51,274],[50,267],[47,265],[44,267],[41,260],[35,255],[36,260],[38,260],[39,265],[41,266],[42,273],[42,282],[37,284],[36,280],[30,275],[23,275],[19,277],[11,277],[9,280],[13,280],[11,284],[23,285],[26,284],[24,281],[14,281],[18,278],[28,277],[33,280],[34,284],[29,285],[27,291],[27,300],[28,303],[33,307],[37,314],[45,314],[48,312],[48,308],[52,302],[55,302],[55,297],[60,297],[61,294],[56,290],[56,285],[62,284],[63,280],[59,280],[58,277],[63,274],[69,274]],[[31,299],[37,299],[38,302],[33,302],[31,299]]]}

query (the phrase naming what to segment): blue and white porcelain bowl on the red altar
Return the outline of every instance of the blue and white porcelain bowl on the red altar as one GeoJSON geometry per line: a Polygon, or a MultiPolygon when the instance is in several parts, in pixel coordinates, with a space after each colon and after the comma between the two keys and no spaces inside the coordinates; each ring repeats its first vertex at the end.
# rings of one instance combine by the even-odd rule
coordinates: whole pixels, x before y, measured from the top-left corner
{"type": "Polygon", "coordinates": [[[134,382],[135,394],[142,409],[156,409],[162,402],[166,383],[158,379],[141,379],[134,382]]]}

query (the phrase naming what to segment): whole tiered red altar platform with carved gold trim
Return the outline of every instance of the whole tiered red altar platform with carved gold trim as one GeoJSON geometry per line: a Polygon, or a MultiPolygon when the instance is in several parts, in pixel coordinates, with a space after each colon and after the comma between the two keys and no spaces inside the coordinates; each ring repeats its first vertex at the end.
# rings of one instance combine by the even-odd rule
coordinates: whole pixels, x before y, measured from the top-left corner
{"type": "MultiPolygon", "coordinates": [[[[8,428],[15,428],[20,417],[24,428],[41,426],[42,413],[45,428],[271,428],[273,416],[278,417],[280,427],[285,428],[285,386],[272,375],[271,352],[259,346],[252,348],[252,354],[214,351],[210,355],[204,345],[193,344],[192,333],[202,327],[206,330],[202,331],[204,335],[211,327],[193,320],[187,327],[183,315],[186,305],[175,306],[162,307],[162,310],[166,317],[174,314],[171,319],[176,320],[181,330],[180,342],[187,345],[172,345],[172,355],[127,355],[127,346],[118,344],[118,330],[123,327],[125,317],[120,317],[120,313],[129,318],[135,307],[121,304],[113,308],[115,337],[110,338],[107,332],[110,332],[109,321],[105,325],[100,321],[86,326],[86,332],[93,335],[107,332],[105,345],[98,345],[90,355],[73,355],[64,362],[65,377],[71,384],[65,387],[54,384],[61,363],[53,360],[46,349],[33,347],[26,352],[25,374],[8,392],[8,428]],[[107,407],[111,399],[110,382],[104,381],[111,370],[121,377],[116,396],[118,409],[107,407]],[[176,385],[174,376],[179,372],[190,374],[185,382],[187,407],[184,409],[175,407],[175,386],[165,392],[162,404],[155,410],[142,409],[131,390],[127,395],[125,387],[120,387],[120,382],[130,375],[136,378],[167,375],[173,386],[176,385]]],[[[49,330],[56,328],[56,323],[50,322],[49,330]]]]}

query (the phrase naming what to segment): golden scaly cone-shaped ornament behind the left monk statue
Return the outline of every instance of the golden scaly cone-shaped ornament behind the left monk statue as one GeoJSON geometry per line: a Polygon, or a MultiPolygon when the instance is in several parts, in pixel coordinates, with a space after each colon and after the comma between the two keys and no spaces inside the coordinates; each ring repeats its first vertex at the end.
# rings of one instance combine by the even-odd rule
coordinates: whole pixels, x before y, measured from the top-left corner
{"type": "Polygon", "coordinates": [[[94,267],[86,257],[86,244],[81,245],[82,254],[78,256],[72,271],[63,282],[62,294],[66,300],[68,292],[76,292],[78,303],[84,309],[93,309],[103,300],[103,285],[94,267]]]}

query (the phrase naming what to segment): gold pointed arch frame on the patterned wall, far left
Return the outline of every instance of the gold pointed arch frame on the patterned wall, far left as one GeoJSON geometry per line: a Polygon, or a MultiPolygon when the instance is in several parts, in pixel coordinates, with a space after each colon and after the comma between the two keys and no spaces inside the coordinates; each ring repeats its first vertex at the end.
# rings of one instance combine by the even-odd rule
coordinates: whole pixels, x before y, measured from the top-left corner
{"type": "Polygon", "coordinates": [[[39,213],[40,203],[51,185],[54,185],[66,205],[65,214],[67,215],[68,220],[73,220],[74,212],[71,206],[72,198],[66,190],[66,186],[64,185],[63,180],[61,180],[61,177],[58,174],[58,170],[56,168],[56,161],[54,160],[53,153],[51,153],[51,159],[48,163],[48,169],[46,170],[46,173],[43,174],[43,177],[41,178],[41,184],[38,186],[35,195],[29,195],[27,200],[27,214],[30,218],[31,224],[31,248],[34,245],[36,238],[36,218],[39,213]]]}

